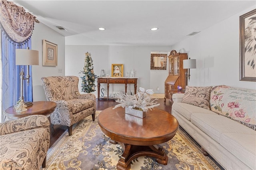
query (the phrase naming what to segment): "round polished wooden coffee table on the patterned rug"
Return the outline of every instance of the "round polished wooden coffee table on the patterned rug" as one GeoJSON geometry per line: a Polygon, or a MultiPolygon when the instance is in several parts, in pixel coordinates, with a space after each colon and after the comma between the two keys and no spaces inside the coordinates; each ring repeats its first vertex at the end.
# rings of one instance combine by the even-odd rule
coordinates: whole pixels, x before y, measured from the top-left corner
{"type": "Polygon", "coordinates": [[[124,149],[116,165],[118,170],[129,170],[130,162],[139,156],[152,156],[166,165],[168,156],[164,149],[154,145],[172,139],[179,127],[175,117],[157,108],[149,110],[142,119],[125,114],[122,107],[110,107],[98,115],[98,124],[110,142],[118,142],[124,149]]]}

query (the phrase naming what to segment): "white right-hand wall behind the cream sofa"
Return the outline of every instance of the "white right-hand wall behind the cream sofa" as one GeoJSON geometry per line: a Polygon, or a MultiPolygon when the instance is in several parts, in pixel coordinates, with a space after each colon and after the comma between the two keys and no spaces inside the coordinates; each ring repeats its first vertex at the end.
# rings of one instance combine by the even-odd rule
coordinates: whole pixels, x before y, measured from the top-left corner
{"type": "Polygon", "coordinates": [[[256,82],[239,81],[239,16],[255,6],[239,12],[202,32],[173,45],[196,59],[197,68],[190,69],[190,86],[229,85],[256,89],[256,82]]]}

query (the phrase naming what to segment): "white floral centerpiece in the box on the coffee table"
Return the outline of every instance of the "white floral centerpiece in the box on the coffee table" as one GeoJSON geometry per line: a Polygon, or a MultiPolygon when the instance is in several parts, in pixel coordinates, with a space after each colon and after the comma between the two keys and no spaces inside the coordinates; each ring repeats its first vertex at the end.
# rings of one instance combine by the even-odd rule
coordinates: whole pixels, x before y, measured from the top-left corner
{"type": "Polygon", "coordinates": [[[145,112],[148,111],[148,109],[152,110],[152,108],[160,105],[157,103],[158,99],[152,99],[150,97],[152,94],[154,94],[152,89],[145,90],[142,87],[140,87],[140,91],[135,95],[118,93],[115,96],[115,101],[120,104],[116,105],[113,109],[116,109],[117,107],[128,107],[145,112]]]}

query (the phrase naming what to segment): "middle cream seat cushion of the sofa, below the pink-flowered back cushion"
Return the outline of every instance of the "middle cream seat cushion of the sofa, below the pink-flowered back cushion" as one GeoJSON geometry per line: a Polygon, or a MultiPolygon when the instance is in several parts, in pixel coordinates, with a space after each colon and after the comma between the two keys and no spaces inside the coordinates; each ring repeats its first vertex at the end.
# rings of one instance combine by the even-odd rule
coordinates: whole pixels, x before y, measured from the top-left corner
{"type": "Polygon", "coordinates": [[[190,121],[216,142],[220,142],[222,133],[254,134],[254,130],[217,114],[193,113],[190,121]]]}

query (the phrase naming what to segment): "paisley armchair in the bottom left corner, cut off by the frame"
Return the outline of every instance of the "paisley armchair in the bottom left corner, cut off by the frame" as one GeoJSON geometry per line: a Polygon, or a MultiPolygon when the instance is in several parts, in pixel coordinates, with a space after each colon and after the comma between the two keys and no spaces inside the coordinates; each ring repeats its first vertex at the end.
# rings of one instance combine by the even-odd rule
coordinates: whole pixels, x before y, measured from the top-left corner
{"type": "Polygon", "coordinates": [[[31,115],[0,124],[0,169],[38,170],[46,165],[50,123],[44,115],[31,115]]]}

